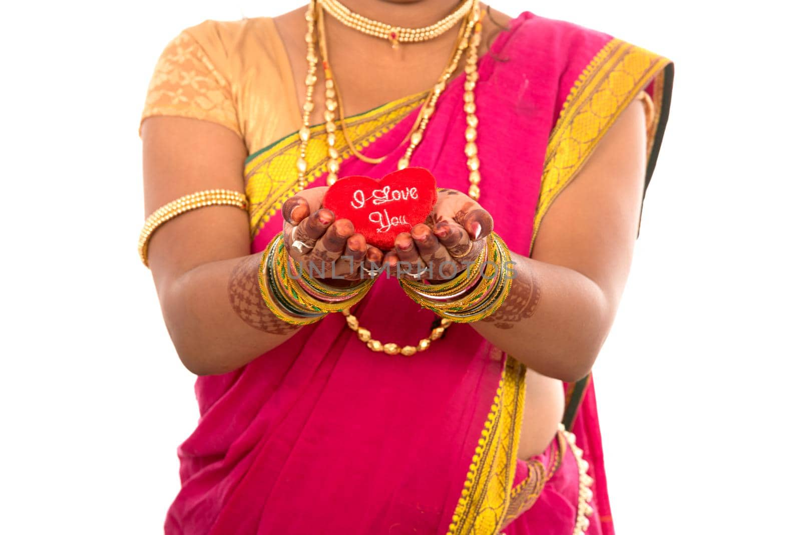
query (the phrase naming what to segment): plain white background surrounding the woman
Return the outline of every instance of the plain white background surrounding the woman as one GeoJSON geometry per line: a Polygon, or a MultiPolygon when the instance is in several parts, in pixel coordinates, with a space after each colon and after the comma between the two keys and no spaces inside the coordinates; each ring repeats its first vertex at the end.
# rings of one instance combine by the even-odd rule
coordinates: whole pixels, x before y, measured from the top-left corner
{"type": "MultiPolygon", "coordinates": [[[[135,241],[163,46],[300,2],[2,9],[0,533],[159,533],[193,377],[135,241]]],[[[513,2],[676,63],[596,381],[618,533],[801,533],[797,43],[771,2],[513,2]]]]}

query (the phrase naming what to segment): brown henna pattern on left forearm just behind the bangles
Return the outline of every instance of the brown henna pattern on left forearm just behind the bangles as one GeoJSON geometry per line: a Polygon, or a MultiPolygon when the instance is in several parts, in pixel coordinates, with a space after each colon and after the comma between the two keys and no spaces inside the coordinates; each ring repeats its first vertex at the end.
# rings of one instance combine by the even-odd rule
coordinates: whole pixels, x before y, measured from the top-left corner
{"type": "Polygon", "coordinates": [[[236,315],[252,328],[275,335],[288,335],[300,328],[279,320],[264,304],[259,290],[259,255],[246,256],[231,270],[228,300],[236,315]]]}

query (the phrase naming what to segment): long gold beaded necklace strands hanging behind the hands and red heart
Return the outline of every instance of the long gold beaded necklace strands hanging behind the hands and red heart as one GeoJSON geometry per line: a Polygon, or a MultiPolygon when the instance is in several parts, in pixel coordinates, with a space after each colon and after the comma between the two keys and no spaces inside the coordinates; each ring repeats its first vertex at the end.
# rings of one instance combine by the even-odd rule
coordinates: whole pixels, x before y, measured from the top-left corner
{"type": "MultiPolygon", "coordinates": [[[[319,0],[320,6],[324,7],[327,0],[319,0]]],[[[480,196],[480,189],[479,183],[481,182],[481,173],[479,171],[480,163],[478,160],[478,147],[476,145],[476,138],[477,138],[477,127],[478,127],[478,118],[476,115],[476,99],[475,99],[475,87],[476,82],[478,80],[478,70],[477,70],[477,63],[478,63],[478,46],[481,43],[481,12],[479,10],[479,3],[478,0],[465,0],[465,4],[469,4],[469,14],[465,15],[465,26],[464,31],[460,34],[460,38],[458,39],[458,44],[456,47],[456,52],[453,54],[453,58],[449,62],[449,65],[446,66],[445,70],[441,74],[441,77],[437,81],[437,84],[433,87],[433,90],[430,92],[429,97],[425,100],[423,105],[421,106],[421,110],[417,116],[417,120],[415,122],[415,127],[413,127],[413,131],[409,135],[409,147],[406,148],[405,154],[398,160],[397,168],[405,169],[405,167],[409,167],[409,161],[413,155],[414,150],[417,146],[421,143],[423,139],[423,135],[425,132],[425,127],[428,126],[429,120],[434,114],[436,110],[437,101],[445,91],[445,86],[453,75],[453,72],[456,70],[459,60],[461,58],[462,53],[465,49],[468,49],[468,54],[466,58],[466,66],[465,66],[465,85],[464,85],[464,109],[465,109],[465,117],[466,117],[466,127],[465,127],[465,156],[467,157],[467,167],[469,170],[469,191],[468,195],[472,198],[477,200],[480,196]]],[[[307,32],[305,35],[305,42],[307,45],[307,54],[306,60],[308,62],[308,70],[306,75],[306,102],[303,106],[303,127],[301,127],[299,131],[300,135],[300,157],[297,160],[297,170],[298,170],[298,186],[303,189],[308,186],[308,181],[306,179],[306,171],[308,169],[308,162],[306,161],[306,150],[308,148],[308,140],[311,138],[311,127],[309,124],[309,118],[311,117],[312,111],[314,110],[314,103],[313,103],[313,96],[314,96],[314,86],[317,81],[316,71],[317,71],[317,56],[315,54],[315,26],[316,21],[319,18],[319,24],[322,24],[322,13],[318,12],[317,10],[317,2],[316,0],[312,0],[309,2],[308,9],[306,10],[306,27],[307,32]]],[[[449,26],[453,27],[453,25],[449,26]]],[[[357,28],[358,29],[358,28],[357,28]]],[[[403,30],[403,29],[400,29],[403,30]]],[[[324,32],[324,30],[323,30],[324,32]]],[[[443,32],[444,33],[444,32],[443,32]]],[[[336,119],[336,109],[340,106],[339,102],[341,100],[341,96],[337,99],[338,94],[336,91],[336,83],[334,82],[333,75],[331,73],[331,66],[328,64],[327,61],[327,51],[325,50],[324,39],[321,36],[320,43],[321,43],[321,53],[325,54],[324,58],[324,73],[325,73],[325,110],[324,110],[324,119],[325,119],[325,130],[327,132],[327,143],[328,143],[328,163],[326,163],[326,167],[328,169],[328,185],[332,185],[336,182],[338,178],[338,172],[340,169],[340,164],[337,161],[339,158],[339,152],[336,151],[336,123],[334,119],[336,119]]],[[[343,122],[344,124],[344,122],[343,122]]],[[[387,343],[382,344],[379,340],[374,340],[370,336],[370,332],[360,327],[359,320],[356,316],[352,315],[349,309],[345,309],[342,311],[343,315],[346,317],[348,321],[348,327],[351,328],[353,331],[356,331],[359,339],[362,340],[365,344],[368,345],[368,348],[372,349],[375,352],[384,352],[389,355],[396,355],[398,353],[411,356],[418,351],[425,351],[431,345],[433,340],[437,340],[442,336],[445,332],[445,329],[451,325],[451,321],[447,319],[441,319],[440,325],[436,328],[433,328],[429,337],[420,340],[417,346],[406,345],[400,347],[398,344],[394,343],[387,343]]]]}

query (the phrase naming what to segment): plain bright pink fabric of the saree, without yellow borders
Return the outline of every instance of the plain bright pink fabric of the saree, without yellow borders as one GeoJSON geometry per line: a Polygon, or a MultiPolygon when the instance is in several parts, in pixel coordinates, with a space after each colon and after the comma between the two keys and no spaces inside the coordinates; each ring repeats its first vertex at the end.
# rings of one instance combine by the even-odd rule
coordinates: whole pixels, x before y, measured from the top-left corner
{"type": "MultiPolygon", "coordinates": [[[[549,132],[570,87],[609,39],[524,13],[481,58],[481,204],[521,255],[529,254],[549,132]]],[[[462,82],[442,95],[412,165],[428,167],[440,187],[467,191],[462,82]]],[[[400,143],[413,115],[368,155],[400,143]]],[[[383,176],[401,153],[376,166],[348,159],[340,175],[383,176]]],[[[280,226],[273,217],[252,250],[280,226]]],[[[379,280],[355,312],[374,338],[400,344],[417,344],[434,320],[395,280],[379,280]]],[[[244,368],[199,377],[201,417],[179,448],[183,486],[166,532],[446,533],[503,369],[491,350],[469,325],[454,325],[411,358],[376,354],[332,314],[244,368]]],[[[598,481],[595,506],[608,515],[594,403],[582,406],[577,433],[598,481]]],[[[532,509],[505,532],[570,533],[576,474],[567,450],[532,509]]],[[[593,522],[590,533],[602,533],[598,515],[593,522]]],[[[605,525],[603,533],[613,533],[605,525]]]]}

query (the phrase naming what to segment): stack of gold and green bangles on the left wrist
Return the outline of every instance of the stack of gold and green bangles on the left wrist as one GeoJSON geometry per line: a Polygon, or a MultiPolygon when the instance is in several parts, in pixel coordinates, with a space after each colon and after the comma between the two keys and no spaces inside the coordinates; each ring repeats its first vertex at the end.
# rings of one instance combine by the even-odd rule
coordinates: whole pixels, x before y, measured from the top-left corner
{"type": "Polygon", "coordinates": [[[358,303],[372,288],[364,280],[352,288],[334,288],[314,279],[292,259],[279,233],[262,253],[259,263],[259,290],[264,304],[288,324],[308,325],[330,312],[340,312],[358,303]]]}

